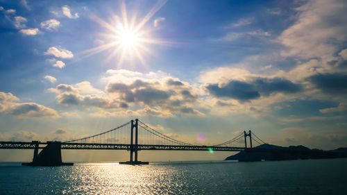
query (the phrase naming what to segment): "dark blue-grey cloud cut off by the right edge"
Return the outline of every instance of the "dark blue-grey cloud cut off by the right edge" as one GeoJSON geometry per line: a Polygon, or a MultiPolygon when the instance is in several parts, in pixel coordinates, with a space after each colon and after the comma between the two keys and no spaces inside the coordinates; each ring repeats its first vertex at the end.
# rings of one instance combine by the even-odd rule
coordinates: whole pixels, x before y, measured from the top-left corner
{"type": "Polygon", "coordinates": [[[347,93],[347,75],[346,74],[316,74],[308,78],[311,83],[323,92],[330,94],[347,93]]]}

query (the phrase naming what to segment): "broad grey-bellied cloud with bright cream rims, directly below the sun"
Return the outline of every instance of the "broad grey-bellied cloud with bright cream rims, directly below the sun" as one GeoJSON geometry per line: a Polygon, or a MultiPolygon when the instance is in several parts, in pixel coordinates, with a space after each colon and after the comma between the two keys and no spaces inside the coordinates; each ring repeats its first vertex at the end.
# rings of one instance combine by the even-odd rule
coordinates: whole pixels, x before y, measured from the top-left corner
{"type": "MultiPolygon", "coordinates": [[[[198,96],[192,91],[192,87],[185,85],[178,79],[174,80],[172,78],[152,80],[138,78],[133,80],[132,83],[123,83],[122,81],[110,82],[105,87],[104,94],[95,95],[80,94],[81,90],[78,88],[64,84],[58,85],[51,91],[58,94],[56,97],[58,103],[65,105],[79,105],[101,109],[129,108],[133,105],[144,106],[144,109],[136,111],[137,114],[160,117],[173,117],[174,113],[204,115],[202,112],[192,108],[192,103],[198,99],[198,96]],[[153,106],[154,108],[151,108],[153,106]]],[[[106,113],[111,112],[103,112],[103,115],[108,115],[106,113]]],[[[134,115],[134,113],[132,111],[127,115],[134,115]]]]}

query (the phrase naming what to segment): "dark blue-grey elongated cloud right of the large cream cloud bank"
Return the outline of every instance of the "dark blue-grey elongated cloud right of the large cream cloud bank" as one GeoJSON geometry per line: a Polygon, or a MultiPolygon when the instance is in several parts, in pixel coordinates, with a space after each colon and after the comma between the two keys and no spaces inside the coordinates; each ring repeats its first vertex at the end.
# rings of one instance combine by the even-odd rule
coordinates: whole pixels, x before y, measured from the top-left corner
{"type": "Polygon", "coordinates": [[[208,84],[205,87],[210,94],[217,97],[228,97],[239,101],[249,101],[260,97],[253,85],[238,80],[231,80],[223,87],[219,87],[218,84],[208,84]]]}

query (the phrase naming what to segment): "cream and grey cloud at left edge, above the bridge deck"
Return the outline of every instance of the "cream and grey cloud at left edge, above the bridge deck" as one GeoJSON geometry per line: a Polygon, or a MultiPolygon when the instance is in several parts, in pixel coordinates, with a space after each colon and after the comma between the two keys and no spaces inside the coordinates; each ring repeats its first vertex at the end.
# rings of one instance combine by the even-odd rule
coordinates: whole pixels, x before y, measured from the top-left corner
{"type": "Polygon", "coordinates": [[[17,103],[19,99],[11,93],[0,92],[0,113],[15,117],[57,118],[56,110],[37,103],[17,103]]]}

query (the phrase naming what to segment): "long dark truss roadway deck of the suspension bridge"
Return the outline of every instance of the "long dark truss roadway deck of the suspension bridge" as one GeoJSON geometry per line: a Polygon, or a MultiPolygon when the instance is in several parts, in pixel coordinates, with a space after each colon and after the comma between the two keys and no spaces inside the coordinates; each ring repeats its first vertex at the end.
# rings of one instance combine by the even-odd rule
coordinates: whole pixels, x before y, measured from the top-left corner
{"type": "MultiPolygon", "coordinates": [[[[35,149],[37,142],[0,142],[0,149],[35,149]]],[[[48,142],[38,142],[39,149],[43,149],[48,142]]],[[[61,149],[72,150],[128,150],[130,144],[95,144],[95,143],[61,143],[61,149]]],[[[135,144],[133,144],[135,147],[135,144]]],[[[189,145],[143,145],[138,144],[137,150],[147,151],[244,151],[244,147],[224,146],[189,146],[189,145]]]]}

